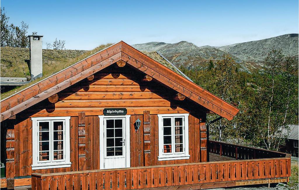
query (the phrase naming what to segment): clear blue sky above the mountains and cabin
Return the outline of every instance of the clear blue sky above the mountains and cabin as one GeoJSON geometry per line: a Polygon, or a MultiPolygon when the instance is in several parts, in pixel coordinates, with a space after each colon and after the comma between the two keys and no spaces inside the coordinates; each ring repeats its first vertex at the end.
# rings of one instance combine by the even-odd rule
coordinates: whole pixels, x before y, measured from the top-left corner
{"type": "Polygon", "coordinates": [[[66,49],[123,40],[221,46],[298,33],[298,0],[30,1],[1,0],[10,22],[29,24],[66,49]]]}

